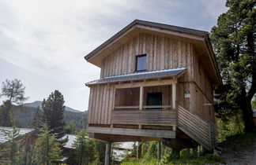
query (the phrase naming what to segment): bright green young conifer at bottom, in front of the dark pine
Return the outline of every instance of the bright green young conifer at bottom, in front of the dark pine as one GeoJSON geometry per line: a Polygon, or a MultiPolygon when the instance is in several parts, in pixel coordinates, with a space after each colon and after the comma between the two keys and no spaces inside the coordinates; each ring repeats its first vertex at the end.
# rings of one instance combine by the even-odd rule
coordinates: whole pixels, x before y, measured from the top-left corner
{"type": "Polygon", "coordinates": [[[61,159],[61,148],[56,141],[55,134],[51,134],[52,130],[43,123],[39,138],[36,139],[35,144],[35,163],[37,164],[55,164],[61,159]]]}

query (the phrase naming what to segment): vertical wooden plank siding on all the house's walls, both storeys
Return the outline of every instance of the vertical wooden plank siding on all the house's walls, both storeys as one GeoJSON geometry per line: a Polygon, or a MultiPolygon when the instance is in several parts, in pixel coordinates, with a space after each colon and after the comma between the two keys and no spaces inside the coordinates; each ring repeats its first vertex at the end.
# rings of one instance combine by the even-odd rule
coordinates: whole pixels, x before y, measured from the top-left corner
{"type": "MultiPolygon", "coordinates": [[[[136,56],[140,54],[147,54],[147,71],[186,67],[186,74],[179,78],[177,101],[183,107],[190,108],[215,123],[213,106],[204,105],[213,100],[212,83],[190,42],[141,33],[104,58],[100,77],[134,73],[136,56]],[[184,97],[185,90],[190,90],[190,98],[184,97]]],[[[171,105],[170,86],[145,87],[145,94],[147,92],[163,92],[163,105],[171,105]]],[[[137,92],[134,90],[135,93],[137,92]]],[[[136,101],[137,97],[134,97],[136,101]]],[[[124,98],[120,94],[115,96],[114,85],[91,86],[88,123],[110,124],[111,110],[115,102],[117,105],[123,103],[122,99],[124,98]]],[[[126,105],[137,105],[136,101],[127,101],[126,105]]]]}

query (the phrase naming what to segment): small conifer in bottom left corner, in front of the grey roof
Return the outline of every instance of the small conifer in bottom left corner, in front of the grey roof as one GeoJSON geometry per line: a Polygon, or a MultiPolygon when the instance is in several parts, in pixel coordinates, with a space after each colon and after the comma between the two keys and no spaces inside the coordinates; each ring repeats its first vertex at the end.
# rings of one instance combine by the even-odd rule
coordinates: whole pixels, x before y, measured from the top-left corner
{"type": "Polygon", "coordinates": [[[18,149],[18,144],[15,138],[20,133],[20,130],[17,129],[16,127],[13,127],[13,130],[0,130],[6,138],[9,140],[6,142],[5,147],[1,151],[1,157],[4,156],[6,157],[6,161],[8,164],[16,164],[17,162],[17,149],[18,149]]]}

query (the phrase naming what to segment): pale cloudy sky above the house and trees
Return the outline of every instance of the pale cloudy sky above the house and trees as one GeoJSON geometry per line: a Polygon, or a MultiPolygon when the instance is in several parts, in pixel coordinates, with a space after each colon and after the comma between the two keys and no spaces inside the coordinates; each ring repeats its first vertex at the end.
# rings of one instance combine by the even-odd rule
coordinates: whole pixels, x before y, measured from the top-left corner
{"type": "Polygon", "coordinates": [[[99,79],[100,68],[84,57],[127,24],[210,31],[227,10],[224,0],[0,0],[0,82],[21,79],[26,102],[59,90],[66,106],[85,111],[85,83],[99,79]]]}

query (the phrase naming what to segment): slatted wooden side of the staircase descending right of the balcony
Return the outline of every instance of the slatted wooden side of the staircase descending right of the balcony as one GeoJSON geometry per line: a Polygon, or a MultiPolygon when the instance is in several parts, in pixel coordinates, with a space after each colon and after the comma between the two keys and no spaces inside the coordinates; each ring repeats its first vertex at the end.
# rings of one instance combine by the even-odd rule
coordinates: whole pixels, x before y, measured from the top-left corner
{"type": "Polygon", "coordinates": [[[216,147],[216,125],[178,105],[178,128],[210,152],[216,147]]]}

